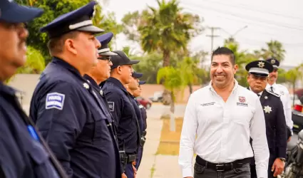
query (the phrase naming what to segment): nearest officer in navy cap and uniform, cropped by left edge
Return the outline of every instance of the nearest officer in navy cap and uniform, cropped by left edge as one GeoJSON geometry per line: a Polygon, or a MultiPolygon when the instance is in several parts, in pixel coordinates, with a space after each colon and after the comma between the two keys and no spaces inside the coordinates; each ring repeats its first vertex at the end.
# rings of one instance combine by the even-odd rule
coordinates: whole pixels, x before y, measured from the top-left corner
{"type": "Polygon", "coordinates": [[[42,9],[0,1],[0,177],[67,177],[63,167],[37,132],[16,98],[16,90],[4,82],[24,66],[24,23],[43,14],[42,9]]]}

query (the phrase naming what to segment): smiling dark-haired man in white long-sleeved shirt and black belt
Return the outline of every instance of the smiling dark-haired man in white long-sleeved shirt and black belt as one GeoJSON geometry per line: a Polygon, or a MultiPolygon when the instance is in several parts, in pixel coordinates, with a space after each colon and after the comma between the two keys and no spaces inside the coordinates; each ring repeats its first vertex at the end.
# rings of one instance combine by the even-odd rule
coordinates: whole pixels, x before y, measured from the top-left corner
{"type": "Polygon", "coordinates": [[[262,106],[255,93],[238,85],[237,68],[234,53],[217,48],[212,53],[210,85],[190,95],[180,138],[183,177],[192,177],[195,153],[195,178],[250,178],[252,147],[257,175],[267,177],[269,150],[262,106]]]}

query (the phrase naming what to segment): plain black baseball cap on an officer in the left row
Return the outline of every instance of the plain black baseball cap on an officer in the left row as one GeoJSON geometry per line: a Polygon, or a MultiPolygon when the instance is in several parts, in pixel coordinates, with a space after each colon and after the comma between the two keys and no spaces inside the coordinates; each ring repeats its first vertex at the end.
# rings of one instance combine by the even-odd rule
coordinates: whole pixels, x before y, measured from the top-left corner
{"type": "Polygon", "coordinates": [[[113,53],[116,53],[118,55],[111,57],[111,62],[113,63],[111,69],[123,65],[133,65],[140,62],[139,60],[130,60],[130,58],[128,58],[128,56],[123,51],[113,51],[113,53]]]}

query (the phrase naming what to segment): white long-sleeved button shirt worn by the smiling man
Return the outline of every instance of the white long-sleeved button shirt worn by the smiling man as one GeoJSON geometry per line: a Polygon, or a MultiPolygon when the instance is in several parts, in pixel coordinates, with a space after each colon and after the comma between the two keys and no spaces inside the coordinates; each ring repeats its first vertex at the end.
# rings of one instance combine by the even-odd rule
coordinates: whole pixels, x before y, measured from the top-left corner
{"type": "Polygon", "coordinates": [[[269,150],[265,117],[258,96],[238,85],[237,80],[226,103],[211,84],[195,91],[186,106],[180,137],[179,164],[183,177],[192,177],[194,152],[213,163],[253,157],[250,137],[257,177],[265,178],[269,150]]]}

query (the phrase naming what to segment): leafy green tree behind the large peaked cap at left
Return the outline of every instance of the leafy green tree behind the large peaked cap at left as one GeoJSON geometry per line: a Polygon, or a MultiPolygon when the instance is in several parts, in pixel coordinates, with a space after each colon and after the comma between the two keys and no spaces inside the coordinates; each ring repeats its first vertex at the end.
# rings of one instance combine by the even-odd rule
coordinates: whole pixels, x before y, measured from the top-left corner
{"type": "MultiPolygon", "coordinates": [[[[56,19],[58,16],[88,4],[89,1],[90,0],[16,0],[19,4],[36,6],[44,10],[44,14],[41,17],[29,22],[28,29],[30,35],[27,44],[41,51],[42,55],[46,59],[46,63],[48,63],[51,59],[47,48],[48,36],[46,33],[39,33],[39,29],[53,21],[53,19],[56,19]]],[[[108,16],[104,16],[101,12],[101,6],[96,6],[93,23],[106,31],[112,31],[114,34],[120,33],[122,28],[115,21],[114,14],[111,13],[108,14],[108,16]]]]}

